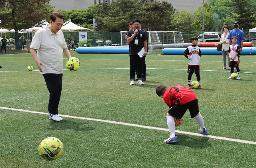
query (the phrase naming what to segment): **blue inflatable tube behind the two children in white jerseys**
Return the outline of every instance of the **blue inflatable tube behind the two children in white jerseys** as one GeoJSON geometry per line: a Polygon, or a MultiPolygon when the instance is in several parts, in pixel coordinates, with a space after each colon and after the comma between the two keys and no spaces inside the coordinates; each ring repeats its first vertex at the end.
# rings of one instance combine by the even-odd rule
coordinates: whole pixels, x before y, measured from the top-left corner
{"type": "MultiPolygon", "coordinates": [[[[164,48],[164,55],[183,55],[186,48],[164,48]]],[[[222,55],[222,51],[217,51],[216,47],[200,47],[203,55],[222,55]]],[[[256,55],[255,47],[243,47],[240,55],[256,55]]]]}

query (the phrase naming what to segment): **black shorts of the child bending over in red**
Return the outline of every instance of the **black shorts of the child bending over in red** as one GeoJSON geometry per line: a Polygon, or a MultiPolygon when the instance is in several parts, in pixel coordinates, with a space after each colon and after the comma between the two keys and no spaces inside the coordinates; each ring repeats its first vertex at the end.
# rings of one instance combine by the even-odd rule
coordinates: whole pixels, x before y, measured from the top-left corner
{"type": "Polygon", "coordinates": [[[184,105],[172,105],[172,107],[170,108],[168,113],[172,117],[181,119],[184,116],[184,114],[186,113],[187,109],[190,112],[191,118],[194,118],[199,112],[198,99],[192,100],[184,105]]]}

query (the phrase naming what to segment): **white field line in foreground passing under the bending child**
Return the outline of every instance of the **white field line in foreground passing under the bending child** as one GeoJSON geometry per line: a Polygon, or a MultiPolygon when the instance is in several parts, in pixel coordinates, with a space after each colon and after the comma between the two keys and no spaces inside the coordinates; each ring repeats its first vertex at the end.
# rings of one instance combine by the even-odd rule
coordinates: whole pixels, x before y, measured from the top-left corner
{"type": "MultiPolygon", "coordinates": [[[[48,115],[47,113],[43,113],[43,112],[23,110],[23,109],[13,109],[13,108],[8,108],[8,107],[0,107],[0,109],[20,111],[20,112],[25,112],[25,113],[48,115]]],[[[59,115],[59,116],[60,117],[66,117],[66,118],[72,118],[72,119],[98,121],[98,122],[104,122],[104,123],[126,125],[126,126],[135,126],[135,127],[139,127],[139,128],[147,128],[147,129],[152,129],[152,130],[162,130],[162,131],[168,131],[169,132],[169,129],[167,129],[167,128],[159,128],[159,127],[154,127],[154,126],[137,125],[137,124],[131,124],[131,123],[122,123],[122,122],[116,122],[116,121],[110,121],[110,120],[101,120],[101,119],[92,119],[92,118],[86,118],[86,117],[76,117],[76,116],[70,116],[70,115],[59,115]]],[[[193,135],[193,136],[204,136],[204,137],[213,138],[213,139],[227,140],[227,141],[232,141],[232,142],[240,142],[240,143],[244,143],[244,144],[255,144],[256,145],[256,142],[249,141],[249,140],[240,140],[240,139],[226,138],[226,137],[214,136],[214,135],[202,135],[202,134],[198,134],[198,133],[194,133],[194,132],[187,132],[187,131],[182,131],[182,130],[176,130],[176,132],[181,133],[181,134],[193,135]]]]}

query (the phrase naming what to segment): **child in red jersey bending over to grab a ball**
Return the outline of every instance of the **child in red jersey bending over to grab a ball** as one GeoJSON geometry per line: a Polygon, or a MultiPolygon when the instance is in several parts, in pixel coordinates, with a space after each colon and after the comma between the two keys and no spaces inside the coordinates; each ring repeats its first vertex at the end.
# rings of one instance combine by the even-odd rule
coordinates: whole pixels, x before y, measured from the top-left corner
{"type": "Polygon", "coordinates": [[[159,97],[162,97],[164,102],[170,108],[166,115],[167,125],[170,130],[170,137],[164,140],[164,143],[174,144],[178,142],[178,138],[175,133],[174,117],[181,119],[187,109],[189,109],[191,118],[195,118],[198,125],[200,125],[200,133],[208,135],[208,131],[204,127],[204,119],[199,113],[198,99],[192,90],[179,85],[172,87],[159,85],[156,87],[156,94],[159,97]]]}

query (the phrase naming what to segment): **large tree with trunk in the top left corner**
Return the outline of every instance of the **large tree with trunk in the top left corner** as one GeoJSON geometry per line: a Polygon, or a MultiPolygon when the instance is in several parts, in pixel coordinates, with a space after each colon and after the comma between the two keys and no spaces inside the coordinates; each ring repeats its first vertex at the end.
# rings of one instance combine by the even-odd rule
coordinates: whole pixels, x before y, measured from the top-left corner
{"type": "Polygon", "coordinates": [[[16,47],[18,30],[34,26],[53,12],[50,0],[0,0],[1,26],[15,30],[16,47]]]}

